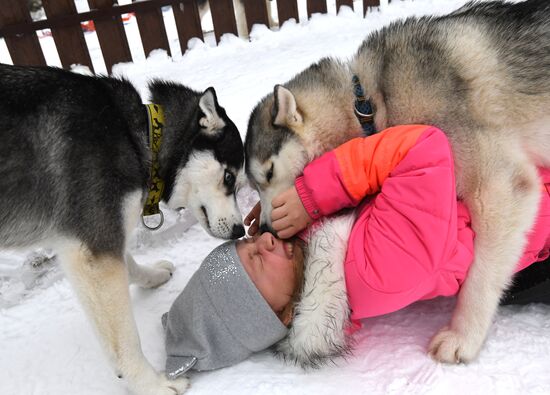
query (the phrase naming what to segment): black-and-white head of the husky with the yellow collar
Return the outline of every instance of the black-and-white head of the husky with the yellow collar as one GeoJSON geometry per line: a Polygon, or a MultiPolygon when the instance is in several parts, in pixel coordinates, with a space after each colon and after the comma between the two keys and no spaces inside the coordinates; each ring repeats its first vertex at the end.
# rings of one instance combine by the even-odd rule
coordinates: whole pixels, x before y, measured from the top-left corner
{"type": "Polygon", "coordinates": [[[215,237],[244,235],[236,193],[244,185],[244,150],[237,127],[219,105],[216,92],[194,92],[156,82],[153,101],[165,111],[161,171],[171,208],[191,209],[215,237]]]}

